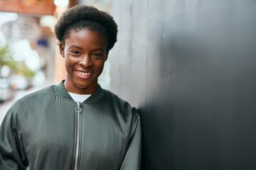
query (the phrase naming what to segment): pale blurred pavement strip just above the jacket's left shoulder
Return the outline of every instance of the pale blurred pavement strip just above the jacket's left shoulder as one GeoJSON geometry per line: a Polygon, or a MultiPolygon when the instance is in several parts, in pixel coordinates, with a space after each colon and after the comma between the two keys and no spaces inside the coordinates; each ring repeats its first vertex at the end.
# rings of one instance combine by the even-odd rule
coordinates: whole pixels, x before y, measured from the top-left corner
{"type": "Polygon", "coordinates": [[[25,96],[26,94],[31,94],[33,91],[37,91],[38,89],[41,89],[41,88],[28,89],[26,91],[17,91],[14,98],[12,98],[11,100],[6,101],[4,103],[0,103],[0,125],[1,125],[1,122],[3,121],[3,119],[4,119],[4,115],[6,115],[6,112],[8,111],[8,109],[11,107],[11,105],[15,101],[17,101],[19,98],[25,96]]]}

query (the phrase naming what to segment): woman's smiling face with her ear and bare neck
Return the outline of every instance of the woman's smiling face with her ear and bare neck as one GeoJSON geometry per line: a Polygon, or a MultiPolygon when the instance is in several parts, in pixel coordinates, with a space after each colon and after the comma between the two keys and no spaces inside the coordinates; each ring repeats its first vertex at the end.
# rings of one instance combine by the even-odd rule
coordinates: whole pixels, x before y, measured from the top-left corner
{"type": "Polygon", "coordinates": [[[65,88],[75,94],[94,93],[108,55],[105,36],[88,29],[71,30],[65,45],[60,43],[60,54],[67,70],[65,88]]]}

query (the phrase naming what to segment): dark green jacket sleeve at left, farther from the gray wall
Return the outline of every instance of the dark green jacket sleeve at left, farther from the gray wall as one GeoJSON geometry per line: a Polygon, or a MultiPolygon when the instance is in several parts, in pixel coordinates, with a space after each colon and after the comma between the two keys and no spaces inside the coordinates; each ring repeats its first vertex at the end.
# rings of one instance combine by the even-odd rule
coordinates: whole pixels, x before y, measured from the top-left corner
{"type": "Polygon", "coordinates": [[[22,152],[18,120],[12,110],[6,113],[0,126],[0,170],[26,169],[26,157],[22,152]]]}

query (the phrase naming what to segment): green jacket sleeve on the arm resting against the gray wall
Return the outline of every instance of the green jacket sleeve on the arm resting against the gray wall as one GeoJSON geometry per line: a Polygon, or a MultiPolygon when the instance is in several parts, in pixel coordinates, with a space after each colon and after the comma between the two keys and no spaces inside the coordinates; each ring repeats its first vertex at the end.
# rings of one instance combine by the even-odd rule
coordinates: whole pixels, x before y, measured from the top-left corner
{"type": "Polygon", "coordinates": [[[142,129],[139,113],[134,109],[133,125],[127,152],[124,156],[120,170],[139,170],[142,150],[142,129]]]}

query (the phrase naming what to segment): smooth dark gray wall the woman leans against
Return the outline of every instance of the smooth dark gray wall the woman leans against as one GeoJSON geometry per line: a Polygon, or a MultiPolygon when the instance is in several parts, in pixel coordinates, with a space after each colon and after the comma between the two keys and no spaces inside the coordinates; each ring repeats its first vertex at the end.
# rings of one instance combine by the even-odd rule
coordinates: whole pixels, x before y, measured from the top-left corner
{"type": "Polygon", "coordinates": [[[111,86],[141,113],[142,169],[256,169],[256,1],[112,5],[111,86]]]}

